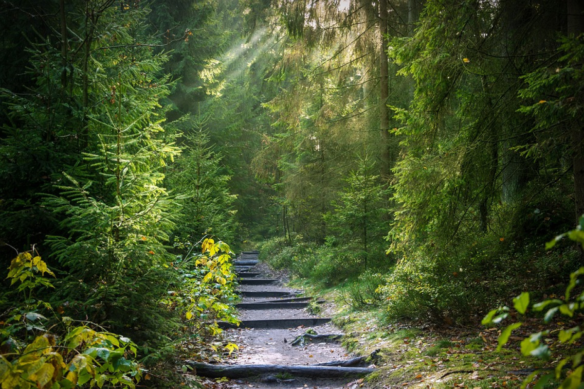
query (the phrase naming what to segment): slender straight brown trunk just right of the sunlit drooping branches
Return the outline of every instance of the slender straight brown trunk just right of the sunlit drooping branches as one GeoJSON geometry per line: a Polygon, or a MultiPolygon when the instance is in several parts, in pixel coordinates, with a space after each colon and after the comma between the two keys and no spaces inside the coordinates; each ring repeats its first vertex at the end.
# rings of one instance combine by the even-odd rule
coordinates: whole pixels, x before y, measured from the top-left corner
{"type": "Polygon", "coordinates": [[[379,114],[380,114],[380,131],[381,131],[381,179],[384,182],[390,177],[391,173],[391,151],[390,151],[390,112],[387,107],[387,99],[390,95],[389,90],[389,66],[387,58],[387,0],[379,2],[379,75],[380,75],[380,94],[379,94],[379,114]]]}

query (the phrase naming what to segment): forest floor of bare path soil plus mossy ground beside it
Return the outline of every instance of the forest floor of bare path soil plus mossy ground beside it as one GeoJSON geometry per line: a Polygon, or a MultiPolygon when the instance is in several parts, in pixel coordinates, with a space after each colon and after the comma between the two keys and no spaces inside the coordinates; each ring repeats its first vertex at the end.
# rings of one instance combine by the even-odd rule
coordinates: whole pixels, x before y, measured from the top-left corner
{"type": "MultiPolygon", "coordinates": [[[[274,272],[265,264],[256,265],[262,274],[279,279],[277,285],[240,286],[246,290],[287,290],[300,293],[308,285],[293,283],[290,287],[286,272],[274,272]]],[[[310,290],[317,293],[319,317],[332,317],[333,324],[313,327],[319,333],[344,333],[340,344],[308,344],[291,346],[291,341],[307,328],[234,329],[225,331],[225,338],[239,345],[235,364],[312,365],[370,355],[381,349],[380,359],[374,362],[377,371],[358,379],[314,380],[302,377],[270,376],[259,379],[205,380],[210,389],[356,389],[356,388],[519,388],[536,368],[548,366],[540,360],[524,357],[519,352],[519,341],[532,332],[541,331],[540,321],[525,319],[524,328],[510,337],[510,346],[496,351],[502,328],[486,328],[477,324],[433,325],[428,323],[384,323],[383,313],[377,309],[356,311],[343,303],[336,289],[310,290]],[[382,324],[384,323],[384,324],[382,324]],[[286,341],[284,340],[286,339],[286,341]]],[[[258,299],[244,298],[245,302],[258,299]]],[[[310,317],[307,309],[241,311],[242,320],[277,317],[310,317]]],[[[234,353],[236,354],[236,353],[234,353]]],[[[551,363],[557,362],[557,358],[551,363]]],[[[550,365],[551,366],[551,365],[550,365]]]]}

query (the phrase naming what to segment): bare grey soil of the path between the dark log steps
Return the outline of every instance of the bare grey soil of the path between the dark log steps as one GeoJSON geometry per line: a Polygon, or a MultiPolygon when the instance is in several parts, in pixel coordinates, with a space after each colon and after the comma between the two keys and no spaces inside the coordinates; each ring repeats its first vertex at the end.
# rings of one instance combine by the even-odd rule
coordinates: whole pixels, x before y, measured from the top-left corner
{"type": "MultiPolygon", "coordinates": [[[[240,285],[239,290],[252,291],[286,291],[304,296],[302,290],[288,288],[286,283],[290,277],[286,272],[276,272],[259,263],[249,269],[258,272],[257,278],[276,278],[278,281],[269,285],[240,285]]],[[[285,299],[286,297],[282,297],[285,299]]],[[[290,297],[287,297],[290,298],[290,297]]],[[[242,297],[242,303],[256,303],[276,301],[278,298],[242,297]]],[[[321,312],[330,311],[330,303],[321,304],[321,312]]],[[[266,309],[239,311],[241,320],[270,320],[281,318],[310,318],[315,316],[308,309],[266,309]]],[[[322,314],[321,314],[322,315],[322,314]]],[[[286,329],[273,328],[237,328],[225,330],[224,338],[239,346],[235,358],[227,363],[237,365],[315,365],[333,360],[347,360],[353,358],[340,342],[310,342],[304,346],[292,346],[291,342],[298,335],[304,334],[309,328],[304,326],[286,329]]],[[[342,334],[339,328],[328,323],[311,327],[318,334],[342,334]]],[[[235,354],[235,353],[234,353],[235,354]]],[[[354,389],[367,388],[363,379],[306,379],[304,377],[276,377],[264,376],[256,379],[237,379],[224,383],[213,383],[210,387],[221,389],[276,389],[276,388],[318,388],[318,389],[354,389]]]]}

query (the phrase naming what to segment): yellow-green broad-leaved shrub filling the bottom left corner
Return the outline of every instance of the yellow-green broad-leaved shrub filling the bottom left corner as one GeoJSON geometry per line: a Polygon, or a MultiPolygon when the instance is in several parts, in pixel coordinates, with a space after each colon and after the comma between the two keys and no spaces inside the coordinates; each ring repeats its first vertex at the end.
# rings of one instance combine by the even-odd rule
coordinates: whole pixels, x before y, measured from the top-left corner
{"type": "MultiPolygon", "coordinates": [[[[40,308],[50,304],[33,298],[38,286],[52,288],[44,274],[53,275],[39,255],[21,253],[11,262],[11,285],[26,295],[26,304],[13,309],[0,327],[0,382],[3,389],[110,387],[135,388],[140,380],[136,346],[128,338],[75,326],[60,318],[64,336],[44,329],[40,308]],[[40,275],[39,275],[40,273],[40,275]]],[[[54,312],[53,312],[54,313],[54,312]]]]}

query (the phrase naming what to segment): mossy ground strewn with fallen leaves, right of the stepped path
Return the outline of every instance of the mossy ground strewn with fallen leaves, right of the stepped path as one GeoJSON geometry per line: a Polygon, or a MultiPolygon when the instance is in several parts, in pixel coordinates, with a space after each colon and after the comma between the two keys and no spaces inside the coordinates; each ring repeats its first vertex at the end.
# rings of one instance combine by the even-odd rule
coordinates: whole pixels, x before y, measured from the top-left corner
{"type": "MultiPolygon", "coordinates": [[[[310,289],[304,282],[302,286],[310,289]]],[[[335,301],[333,321],[345,330],[345,346],[350,351],[369,355],[381,349],[376,361],[379,370],[367,377],[366,387],[519,388],[535,369],[547,366],[519,352],[519,341],[526,333],[513,335],[506,348],[496,351],[504,327],[387,323],[383,309],[354,310],[343,301],[338,288],[313,288],[310,293],[335,301]]],[[[551,382],[545,388],[558,385],[551,382]]]]}

